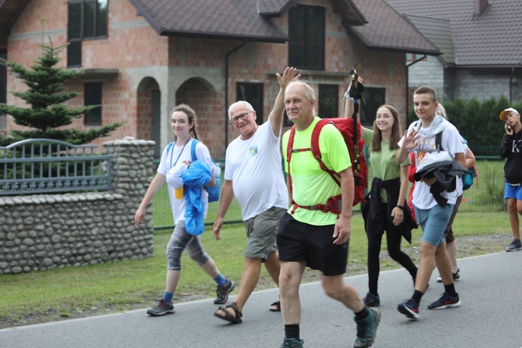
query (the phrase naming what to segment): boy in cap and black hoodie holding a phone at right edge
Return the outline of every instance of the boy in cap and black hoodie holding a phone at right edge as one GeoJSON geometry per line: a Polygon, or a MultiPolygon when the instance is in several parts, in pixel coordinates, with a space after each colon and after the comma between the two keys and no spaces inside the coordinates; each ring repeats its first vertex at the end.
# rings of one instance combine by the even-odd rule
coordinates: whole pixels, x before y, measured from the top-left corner
{"type": "Polygon", "coordinates": [[[505,121],[506,132],[500,145],[500,157],[505,159],[504,199],[513,233],[513,242],[507,246],[506,251],[517,251],[522,249],[519,228],[519,214],[522,214],[522,124],[519,111],[513,108],[502,111],[500,120],[505,121]]]}

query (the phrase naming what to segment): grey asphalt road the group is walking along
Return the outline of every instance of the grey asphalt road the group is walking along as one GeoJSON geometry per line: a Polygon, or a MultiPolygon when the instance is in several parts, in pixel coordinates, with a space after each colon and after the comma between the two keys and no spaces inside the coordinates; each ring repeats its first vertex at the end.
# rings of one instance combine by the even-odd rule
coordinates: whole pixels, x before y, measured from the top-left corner
{"type": "MultiPolygon", "coordinates": [[[[420,319],[406,318],[397,303],[411,296],[404,269],[384,271],[379,278],[382,321],[374,348],[522,347],[522,251],[459,260],[456,287],[462,306],[427,310],[443,292],[435,271],[422,299],[420,319]]],[[[345,281],[363,296],[367,276],[345,281]]],[[[236,294],[237,290],[232,294],[236,294]]],[[[329,299],[319,283],[301,285],[301,338],[305,347],[353,347],[353,313],[329,299]]],[[[280,313],[269,312],[277,290],[252,294],[242,324],[214,317],[213,299],[175,305],[176,313],[149,317],[143,310],[0,330],[0,347],[279,347],[283,340],[280,313]]],[[[229,302],[234,299],[231,296],[229,302]]]]}

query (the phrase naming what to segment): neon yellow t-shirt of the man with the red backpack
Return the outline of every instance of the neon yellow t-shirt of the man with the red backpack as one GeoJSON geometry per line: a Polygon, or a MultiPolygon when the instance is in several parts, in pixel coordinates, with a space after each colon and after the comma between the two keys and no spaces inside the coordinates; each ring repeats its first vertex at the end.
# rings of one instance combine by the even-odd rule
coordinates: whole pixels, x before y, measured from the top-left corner
{"type": "MultiPolygon", "coordinates": [[[[314,118],[312,124],[303,131],[296,131],[294,135],[294,149],[310,148],[312,132],[320,118],[314,118]]],[[[285,132],[281,140],[285,171],[288,173],[287,145],[290,131],[285,132]]],[[[322,161],[326,168],[339,173],[351,166],[351,161],[342,134],[334,125],[325,125],[319,133],[319,149],[322,161]]],[[[319,166],[312,151],[293,152],[290,160],[290,175],[292,175],[292,198],[299,205],[325,204],[328,198],[341,193],[341,188],[332,177],[319,166]]],[[[293,206],[288,209],[292,213],[293,206]]],[[[333,225],[337,215],[331,212],[297,208],[294,219],[316,226],[333,225]]]]}

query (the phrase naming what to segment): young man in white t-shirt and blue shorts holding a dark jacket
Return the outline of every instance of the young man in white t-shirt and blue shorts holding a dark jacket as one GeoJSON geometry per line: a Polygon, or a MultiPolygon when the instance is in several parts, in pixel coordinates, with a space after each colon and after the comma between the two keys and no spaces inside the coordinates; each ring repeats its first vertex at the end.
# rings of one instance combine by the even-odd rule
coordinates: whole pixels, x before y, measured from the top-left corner
{"type": "MultiPolygon", "coordinates": [[[[441,150],[440,152],[447,152],[450,160],[465,167],[464,147],[457,128],[436,114],[438,100],[435,90],[429,86],[420,86],[413,93],[413,104],[419,120],[411,123],[399,141],[400,149],[395,155],[397,164],[402,164],[409,156],[409,152],[413,152],[415,154],[414,164],[419,170],[441,150]],[[436,144],[437,134],[441,134],[440,148],[436,144]]],[[[444,238],[444,230],[448,226],[459,195],[456,180],[452,180],[453,185],[441,188],[441,182],[437,182],[436,176],[425,176],[419,179],[420,181],[416,182],[416,188],[413,191],[413,207],[417,222],[422,228],[420,263],[413,295],[397,306],[400,313],[412,319],[419,317],[420,300],[426,291],[435,263],[441,274],[444,292],[438,300],[428,305],[428,309],[435,310],[461,305],[459,294],[453,283],[451,262],[444,238]],[[436,195],[435,191],[437,191],[436,195]]]]}

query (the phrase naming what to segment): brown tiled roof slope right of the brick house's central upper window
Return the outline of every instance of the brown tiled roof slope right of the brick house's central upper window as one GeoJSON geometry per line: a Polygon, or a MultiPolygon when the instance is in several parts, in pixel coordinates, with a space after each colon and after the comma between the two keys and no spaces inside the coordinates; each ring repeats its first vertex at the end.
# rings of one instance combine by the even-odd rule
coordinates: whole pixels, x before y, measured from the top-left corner
{"type": "Polygon", "coordinates": [[[440,54],[439,49],[383,0],[352,0],[367,24],[352,26],[368,48],[399,52],[440,54]]]}

